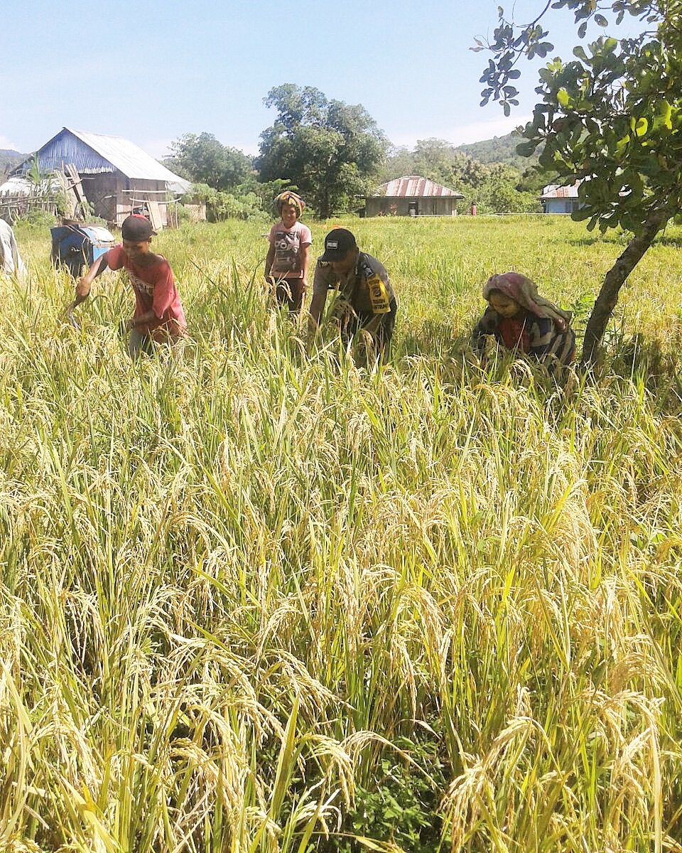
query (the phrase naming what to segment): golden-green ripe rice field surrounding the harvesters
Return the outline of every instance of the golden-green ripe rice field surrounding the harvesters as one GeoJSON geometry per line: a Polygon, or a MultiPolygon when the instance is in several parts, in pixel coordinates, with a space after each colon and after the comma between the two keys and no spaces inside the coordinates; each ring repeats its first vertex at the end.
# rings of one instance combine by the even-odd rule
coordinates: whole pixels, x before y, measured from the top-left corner
{"type": "MultiPolygon", "coordinates": [[[[558,389],[467,351],[493,272],[575,311],[623,235],[341,220],[368,372],[263,290],[263,224],[155,238],[191,340],[133,365],[49,231],[0,281],[0,850],[682,850],[682,230],[558,389]]],[[[313,223],[313,255],[332,223],[313,223]]]]}

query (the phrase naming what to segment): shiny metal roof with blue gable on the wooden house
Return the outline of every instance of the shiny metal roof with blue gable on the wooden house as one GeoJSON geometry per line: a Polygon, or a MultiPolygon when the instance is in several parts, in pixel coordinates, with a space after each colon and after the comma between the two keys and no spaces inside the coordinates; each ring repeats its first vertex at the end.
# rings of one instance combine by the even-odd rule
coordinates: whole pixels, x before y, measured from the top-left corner
{"type": "MultiPolygon", "coordinates": [[[[38,148],[37,156],[40,171],[52,171],[72,163],[81,175],[120,171],[133,180],[164,181],[182,189],[191,186],[189,181],[157,163],[146,151],[123,136],[72,131],[65,127],[38,148]]],[[[30,161],[26,160],[26,165],[29,164],[30,161]]],[[[24,165],[22,163],[20,168],[24,165]]]]}

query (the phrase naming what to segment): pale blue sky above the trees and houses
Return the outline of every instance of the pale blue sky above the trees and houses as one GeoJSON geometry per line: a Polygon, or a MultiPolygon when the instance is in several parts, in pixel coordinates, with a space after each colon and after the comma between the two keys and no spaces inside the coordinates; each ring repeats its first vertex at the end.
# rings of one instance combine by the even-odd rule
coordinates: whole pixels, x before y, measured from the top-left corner
{"type": "MultiPolygon", "coordinates": [[[[519,22],[540,0],[500,0],[519,22]]],[[[0,148],[39,148],[63,126],[125,136],[155,157],[183,133],[212,133],[257,153],[283,83],[361,103],[396,145],[431,136],[454,144],[500,136],[535,103],[539,62],[523,61],[511,119],[479,107],[497,0],[5,0],[0,25],[0,148]]],[[[547,16],[557,55],[575,28],[547,16]]],[[[597,34],[595,32],[595,34],[597,34]]]]}

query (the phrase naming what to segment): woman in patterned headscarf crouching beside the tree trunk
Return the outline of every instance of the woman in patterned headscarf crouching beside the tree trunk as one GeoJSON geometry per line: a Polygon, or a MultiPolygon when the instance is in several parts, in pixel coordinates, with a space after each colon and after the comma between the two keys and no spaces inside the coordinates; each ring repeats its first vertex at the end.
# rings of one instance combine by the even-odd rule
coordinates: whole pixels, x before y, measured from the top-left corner
{"type": "Polygon", "coordinates": [[[471,333],[471,345],[479,354],[483,354],[486,335],[492,335],[499,345],[537,358],[550,371],[573,361],[570,313],[543,299],[529,278],[517,272],[490,276],[483,286],[483,299],[488,308],[471,333]]]}

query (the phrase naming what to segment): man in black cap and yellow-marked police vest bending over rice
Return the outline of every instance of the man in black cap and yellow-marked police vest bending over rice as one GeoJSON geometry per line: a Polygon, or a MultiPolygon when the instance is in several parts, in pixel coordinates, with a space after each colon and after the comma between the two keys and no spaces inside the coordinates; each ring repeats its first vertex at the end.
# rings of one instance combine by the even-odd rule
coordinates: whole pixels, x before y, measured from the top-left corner
{"type": "Polygon", "coordinates": [[[386,361],[396,325],[396,294],[388,273],[372,255],[361,252],[355,236],[335,228],[325,237],[325,251],[315,264],[310,325],[317,333],[327,302],[327,292],[336,290],[332,317],[339,324],[344,347],[364,333],[373,356],[386,361]]]}

